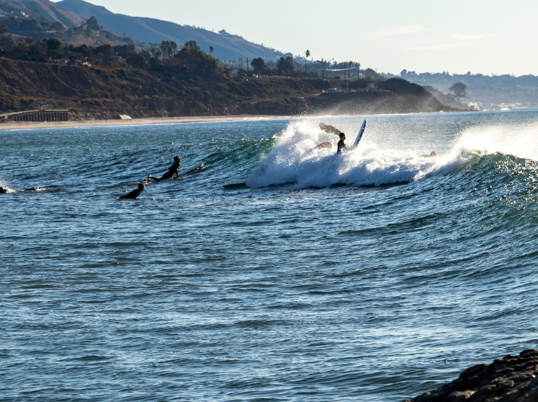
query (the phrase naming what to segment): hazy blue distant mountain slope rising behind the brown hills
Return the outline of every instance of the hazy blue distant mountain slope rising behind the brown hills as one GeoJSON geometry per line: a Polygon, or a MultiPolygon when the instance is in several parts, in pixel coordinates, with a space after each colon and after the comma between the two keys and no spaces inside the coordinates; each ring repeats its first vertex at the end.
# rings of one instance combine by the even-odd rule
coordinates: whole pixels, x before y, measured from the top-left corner
{"type": "MultiPolygon", "coordinates": [[[[19,1],[28,2],[29,0],[19,1]]],[[[126,36],[135,41],[160,44],[163,40],[169,40],[175,41],[181,47],[185,42],[194,40],[206,53],[209,53],[210,46],[213,46],[214,52],[212,54],[223,61],[238,61],[239,58],[252,60],[258,57],[266,61],[274,61],[284,55],[284,53],[274,49],[253,44],[237,35],[215,33],[202,28],[179,25],[155,18],[115,14],[103,6],[97,6],[82,0],[63,0],[56,4],[73,11],[84,19],[93,16],[97,18],[99,24],[119,34],[125,33],[126,36]]]]}

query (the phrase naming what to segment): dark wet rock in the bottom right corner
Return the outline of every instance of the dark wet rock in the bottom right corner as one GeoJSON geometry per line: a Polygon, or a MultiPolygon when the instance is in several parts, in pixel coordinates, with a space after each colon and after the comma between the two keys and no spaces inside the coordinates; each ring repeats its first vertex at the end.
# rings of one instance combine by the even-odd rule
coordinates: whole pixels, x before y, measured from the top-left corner
{"type": "Polygon", "coordinates": [[[478,364],[435,391],[404,402],[536,402],[538,350],[523,350],[491,364],[478,364]]]}

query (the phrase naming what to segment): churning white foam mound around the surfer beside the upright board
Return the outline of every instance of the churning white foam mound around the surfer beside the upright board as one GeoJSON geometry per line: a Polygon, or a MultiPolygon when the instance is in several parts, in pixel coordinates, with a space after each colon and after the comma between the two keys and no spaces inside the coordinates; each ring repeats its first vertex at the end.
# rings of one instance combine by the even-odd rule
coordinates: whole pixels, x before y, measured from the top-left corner
{"type": "MultiPolygon", "coordinates": [[[[355,138],[346,139],[348,144],[355,138]]],[[[351,138],[353,137],[353,138],[351,138]]],[[[265,155],[247,179],[247,185],[261,187],[295,183],[297,188],[327,187],[333,184],[384,185],[424,177],[439,163],[409,150],[379,147],[363,140],[350,152],[337,154],[338,137],[321,133],[317,121],[292,121],[281,133],[270,153],[265,155]],[[332,148],[316,148],[330,141],[332,148]]],[[[442,163],[446,163],[443,159],[442,163]]]]}

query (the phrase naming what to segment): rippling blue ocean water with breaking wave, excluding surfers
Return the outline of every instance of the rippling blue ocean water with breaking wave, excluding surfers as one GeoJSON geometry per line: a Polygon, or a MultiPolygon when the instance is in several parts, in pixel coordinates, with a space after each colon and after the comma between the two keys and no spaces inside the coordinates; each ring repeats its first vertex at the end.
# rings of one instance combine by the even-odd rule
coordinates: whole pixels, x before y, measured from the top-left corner
{"type": "Polygon", "coordinates": [[[401,401],[538,347],[537,110],[0,143],[39,188],[0,194],[2,401],[401,401]]]}

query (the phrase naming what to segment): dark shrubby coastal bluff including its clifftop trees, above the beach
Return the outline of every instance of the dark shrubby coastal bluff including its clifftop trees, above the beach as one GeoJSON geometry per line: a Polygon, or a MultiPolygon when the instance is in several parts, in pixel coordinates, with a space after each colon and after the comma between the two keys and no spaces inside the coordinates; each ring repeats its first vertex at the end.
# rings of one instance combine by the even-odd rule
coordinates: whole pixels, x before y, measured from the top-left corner
{"type": "MultiPolygon", "coordinates": [[[[88,21],[89,23],[90,21],[88,21]]],[[[4,30],[5,31],[5,30],[4,30]]],[[[16,40],[0,34],[0,111],[23,111],[44,102],[75,118],[295,115],[453,110],[405,80],[323,80],[301,71],[238,76],[195,41],[178,48],[162,42],[153,54],[132,44],[74,46],[58,38],[16,40]],[[377,90],[363,91],[368,85],[377,90]],[[323,93],[323,88],[354,92],[323,93]],[[320,95],[321,94],[321,95],[320,95]]],[[[285,68],[283,62],[279,68],[285,68]]]]}

